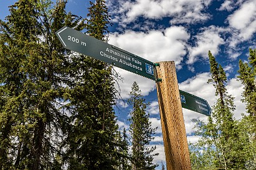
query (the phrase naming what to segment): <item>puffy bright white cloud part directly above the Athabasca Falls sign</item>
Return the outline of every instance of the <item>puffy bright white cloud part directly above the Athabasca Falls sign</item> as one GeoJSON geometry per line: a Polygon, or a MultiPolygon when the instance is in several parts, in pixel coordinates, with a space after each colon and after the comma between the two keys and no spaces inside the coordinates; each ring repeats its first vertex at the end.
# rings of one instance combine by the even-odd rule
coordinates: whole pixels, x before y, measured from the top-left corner
{"type": "Polygon", "coordinates": [[[110,34],[109,38],[109,43],[149,61],[174,60],[179,65],[186,55],[189,34],[184,27],[174,26],[146,33],[126,31],[124,34],[110,34]]]}

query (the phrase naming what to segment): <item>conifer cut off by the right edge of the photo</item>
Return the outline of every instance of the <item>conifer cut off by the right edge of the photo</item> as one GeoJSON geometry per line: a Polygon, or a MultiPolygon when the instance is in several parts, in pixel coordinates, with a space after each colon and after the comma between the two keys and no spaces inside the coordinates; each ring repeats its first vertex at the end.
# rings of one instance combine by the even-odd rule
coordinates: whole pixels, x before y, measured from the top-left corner
{"type": "Polygon", "coordinates": [[[247,167],[256,168],[256,50],[249,49],[249,63],[239,60],[239,76],[237,79],[244,84],[242,102],[245,102],[247,113],[239,123],[243,137],[247,139],[245,150],[247,153],[247,167]]]}

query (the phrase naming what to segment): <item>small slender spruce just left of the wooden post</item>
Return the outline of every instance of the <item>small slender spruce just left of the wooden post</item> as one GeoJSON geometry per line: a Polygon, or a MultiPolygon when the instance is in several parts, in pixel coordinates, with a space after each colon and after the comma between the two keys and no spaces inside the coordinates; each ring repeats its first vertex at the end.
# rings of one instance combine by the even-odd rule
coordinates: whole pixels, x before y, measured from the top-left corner
{"type": "Polygon", "coordinates": [[[131,164],[132,169],[154,169],[158,164],[153,164],[153,154],[156,146],[149,147],[149,143],[154,139],[155,128],[151,128],[149,114],[146,113],[147,104],[141,95],[140,88],[136,82],[133,83],[130,91],[128,103],[132,105],[131,118],[129,119],[131,134],[131,164]]]}

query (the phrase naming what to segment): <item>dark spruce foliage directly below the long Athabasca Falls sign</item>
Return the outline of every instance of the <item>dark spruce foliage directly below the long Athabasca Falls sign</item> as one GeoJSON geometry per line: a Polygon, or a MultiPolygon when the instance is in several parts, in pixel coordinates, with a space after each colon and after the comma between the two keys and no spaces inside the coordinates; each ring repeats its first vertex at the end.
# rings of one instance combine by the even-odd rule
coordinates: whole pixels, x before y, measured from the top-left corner
{"type": "Polygon", "coordinates": [[[113,169],[118,127],[111,69],[92,65],[83,56],[75,56],[81,75],[70,86],[70,128],[67,162],[69,169],[113,169]]]}

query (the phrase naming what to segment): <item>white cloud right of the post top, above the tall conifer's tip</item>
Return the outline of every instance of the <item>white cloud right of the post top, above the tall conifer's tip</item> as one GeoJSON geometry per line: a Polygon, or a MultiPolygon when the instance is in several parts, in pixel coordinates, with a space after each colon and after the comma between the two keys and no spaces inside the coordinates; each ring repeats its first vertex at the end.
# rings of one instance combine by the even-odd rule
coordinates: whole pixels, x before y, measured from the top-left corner
{"type": "Polygon", "coordinates": [[[212,55],[219,53],[219,46],[224,44],[224,39],[220,37],[220,33],[225,29],[220,27],[211,26],[203,29],[203,32],[197,34],[196,46],[189,47],[189,55],[187,64],[193,64],[199,58],[208,58],[208,51],[211,50],[212,55]]]}

